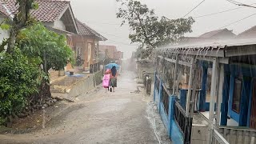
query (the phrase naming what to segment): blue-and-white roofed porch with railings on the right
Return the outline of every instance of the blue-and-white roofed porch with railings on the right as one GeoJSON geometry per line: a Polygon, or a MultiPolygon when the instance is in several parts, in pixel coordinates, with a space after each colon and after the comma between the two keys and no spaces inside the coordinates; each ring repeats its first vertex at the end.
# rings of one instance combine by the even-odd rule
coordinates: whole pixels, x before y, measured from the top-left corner
{"type": "Polygon", "coordinates": [[[174,143],[256,142],[255,57],[254,42],[158,50],[154,101],[174,143]]]}

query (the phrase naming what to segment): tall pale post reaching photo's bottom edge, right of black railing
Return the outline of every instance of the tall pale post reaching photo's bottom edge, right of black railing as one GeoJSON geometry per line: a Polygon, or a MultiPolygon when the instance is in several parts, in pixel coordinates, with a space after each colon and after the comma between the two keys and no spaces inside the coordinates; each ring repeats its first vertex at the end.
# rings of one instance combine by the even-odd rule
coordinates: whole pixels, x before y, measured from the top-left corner
{"type": "Polygon", "coordinates": [[[207,137],[207,143],[211,144],[212,136],[214,132],[214,105],[215,105],[215,96],[216,96],[216,76],[218,75],[218,61],[216,58],[213,60],[213,69],[211,75],[210,83],[210,110],[209,110],[209,133],[207,137]]]}

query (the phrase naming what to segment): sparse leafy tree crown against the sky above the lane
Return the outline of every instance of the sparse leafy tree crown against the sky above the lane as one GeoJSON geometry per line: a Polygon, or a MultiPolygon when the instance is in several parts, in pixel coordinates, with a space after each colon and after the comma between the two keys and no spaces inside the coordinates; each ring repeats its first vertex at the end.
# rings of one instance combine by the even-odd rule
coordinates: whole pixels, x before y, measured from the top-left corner
{"type": "MultiPolygon", "coordinates": [[[[122,25],[126,22],[130,26],[131,42],[142,44],[146,57],[158,46],[177,43],[184,34],[192,32],[193,18],[169,19],[164,16],[158,18],[154,10],[134,0],[117,0],[122,4],[117,13],[117,18],[122,18],[122,25]]],[[[121,25],[121,26],[122,26],[121,25]]],[[[145,55],[145,54],[144,54],[145,55]]]]}

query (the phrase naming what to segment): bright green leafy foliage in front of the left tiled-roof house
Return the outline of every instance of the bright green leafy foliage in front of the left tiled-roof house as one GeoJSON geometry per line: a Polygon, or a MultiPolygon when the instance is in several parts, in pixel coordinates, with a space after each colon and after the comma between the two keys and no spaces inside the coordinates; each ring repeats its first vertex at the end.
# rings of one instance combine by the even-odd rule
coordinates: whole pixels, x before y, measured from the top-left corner
{"type": "Polygon", "coordinates": [[[42,60],[44,71],[63,70],[67,62],[73,61],[73,51],[66,44],[66,38],[40,23],[21,30],[18,44],[28,57],[42,60]]]}

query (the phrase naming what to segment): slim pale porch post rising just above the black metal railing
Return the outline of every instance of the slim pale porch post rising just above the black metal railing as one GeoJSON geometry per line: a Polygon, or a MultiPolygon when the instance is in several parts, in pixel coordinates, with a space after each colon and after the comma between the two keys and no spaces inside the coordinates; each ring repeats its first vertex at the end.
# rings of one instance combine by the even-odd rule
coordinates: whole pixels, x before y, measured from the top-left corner
{"type": "Polygon", "coordinates": [[[186,95],[186,117],[190,115],[190,98],[191,98],[191,86],[192,86],[192,75],[194,74],[194,58],[191,58],[190,65],[190,80],[189,80],[189,88],[186,95]]]}

